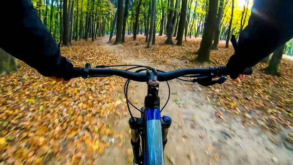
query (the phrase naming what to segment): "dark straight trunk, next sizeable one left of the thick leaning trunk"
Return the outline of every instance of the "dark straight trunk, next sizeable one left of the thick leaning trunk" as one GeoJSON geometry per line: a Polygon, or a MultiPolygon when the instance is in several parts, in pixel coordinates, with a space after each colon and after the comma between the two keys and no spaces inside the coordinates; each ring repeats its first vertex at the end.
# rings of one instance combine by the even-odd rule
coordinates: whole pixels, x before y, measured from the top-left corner
{"type": "Polygon", "coordinates": [[[182,45],[183,40],[183,33],[185,29],[185,22],[186,22],[186,15],[187,15],[187,0],[182,0],[182,7],[181,7],[181,16],[178,25],[178,35],[177,35],[177,44],[178,46],[182,45]]]}

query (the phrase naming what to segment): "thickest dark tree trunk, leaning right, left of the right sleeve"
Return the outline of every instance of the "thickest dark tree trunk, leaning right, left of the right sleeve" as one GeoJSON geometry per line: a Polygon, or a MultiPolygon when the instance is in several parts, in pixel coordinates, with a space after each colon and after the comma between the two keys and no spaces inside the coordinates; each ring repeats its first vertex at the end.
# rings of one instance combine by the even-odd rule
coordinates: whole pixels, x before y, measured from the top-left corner
{"type": "Polygon", "coordinates": [[[196,60],[199,62],[209,62],[209,48],[211,46],[213,33],[215,30],[217,6],[218,0],[209,0],[209,13],[207,16],[207,22],[205,24],[203,39],[200,43],[198,56],[196,58],[196,60]]]}

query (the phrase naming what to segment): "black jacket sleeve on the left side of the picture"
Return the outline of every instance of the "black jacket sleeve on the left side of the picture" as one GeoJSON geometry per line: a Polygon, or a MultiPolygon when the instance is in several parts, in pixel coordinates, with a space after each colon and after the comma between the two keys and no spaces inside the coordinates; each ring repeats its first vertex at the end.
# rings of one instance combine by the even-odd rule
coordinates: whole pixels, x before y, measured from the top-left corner
{"type": "Polygon", "coordinates": [[[0,47],[44,76],[69,79],[72,64],[42,24],[31,0],[5,0],[0,9],[0,47]],[[10,6],[13,6],[11,9],[10,6]]]}

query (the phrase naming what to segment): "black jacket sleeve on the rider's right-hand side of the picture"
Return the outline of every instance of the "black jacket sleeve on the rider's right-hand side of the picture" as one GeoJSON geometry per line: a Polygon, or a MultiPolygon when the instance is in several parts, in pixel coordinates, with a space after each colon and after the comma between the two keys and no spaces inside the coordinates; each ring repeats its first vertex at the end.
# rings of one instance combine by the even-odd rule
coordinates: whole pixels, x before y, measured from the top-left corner
{"type": "Polygon", "coordinates": [[[236,78],[292,38],[293,0],[254,0],[249,23],[227,64],[230,77],[236,78]]]}

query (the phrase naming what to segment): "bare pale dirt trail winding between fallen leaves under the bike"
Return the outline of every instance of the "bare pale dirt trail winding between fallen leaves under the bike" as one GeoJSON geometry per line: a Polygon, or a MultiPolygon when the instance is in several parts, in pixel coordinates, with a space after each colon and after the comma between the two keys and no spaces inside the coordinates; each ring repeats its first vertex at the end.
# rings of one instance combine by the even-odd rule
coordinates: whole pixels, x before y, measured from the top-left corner
{"type": "MultiPolygon", "coordinates": [[[[119,53],[125,61],[123,64],[138,64],[170,71],[166,66],[157,66],[148,61],[132,58],[123,46],[107,44],[108,37],[99,47],[119,53]]],[[[171,60],[172,64],[184,65],[181,61],[171,60]]],[[[280,135],[270,141],[260,129],[244,127],[241,118],[215,116],[216,109],[205,99],[204,94],[192,89],[201,88],[197,84],[169,81],[171,95],[162,115],[172,118],[165,148],[165,165],[293,165],[292,151],[283,145],[280,135]]],[[[137,107],[143,106],[146,95],[146,83],[131,82],[129,95],[138,100],[137,107]]],[[[161,106],[167,100],[166,83],[160,84],[161,106]]],[[[138,113],[133,110],[134,116],[138,113]]],[[[129,116],[121,119],[113,129],[128,133],[129,116]]],[[[132,156],[130,137],[126,135],[122,148],[113,145],[105,150],[98,164],[129,165],[127,158],[132,156]],[[130,151],[130,153],[129,153],[130,151]],[[127,156],[128,155],[128,156],[127,156]]],[[[131,164],[132,165],[132,164],[131,164]]]]}

